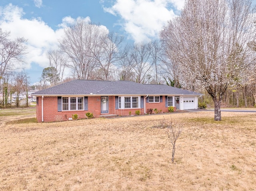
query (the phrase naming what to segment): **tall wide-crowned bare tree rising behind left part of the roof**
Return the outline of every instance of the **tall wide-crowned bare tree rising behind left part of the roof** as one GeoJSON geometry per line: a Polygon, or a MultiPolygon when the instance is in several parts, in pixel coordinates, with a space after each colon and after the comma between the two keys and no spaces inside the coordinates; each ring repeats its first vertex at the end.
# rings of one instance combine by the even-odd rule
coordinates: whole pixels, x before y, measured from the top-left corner
{"type": "Polygon", "coordinates": [[[59,40],[61,51],[71,62],[67,66],[78,79],[90,79],[96,63],[92,49],[96,47],[99,33],[98,25],[78,20],[64,31],[64,36],[59,40]]]}

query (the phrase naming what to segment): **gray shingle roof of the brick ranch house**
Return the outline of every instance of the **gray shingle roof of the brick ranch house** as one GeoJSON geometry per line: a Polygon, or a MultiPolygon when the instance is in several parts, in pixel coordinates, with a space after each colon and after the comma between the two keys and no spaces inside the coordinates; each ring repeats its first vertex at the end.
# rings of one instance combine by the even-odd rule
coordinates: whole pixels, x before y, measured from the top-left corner
{"type": "Polygon", "coordinates": [[[202,95],[167,85],[139,84],[131,81],[74,80],[33,95],[202,95]]]}

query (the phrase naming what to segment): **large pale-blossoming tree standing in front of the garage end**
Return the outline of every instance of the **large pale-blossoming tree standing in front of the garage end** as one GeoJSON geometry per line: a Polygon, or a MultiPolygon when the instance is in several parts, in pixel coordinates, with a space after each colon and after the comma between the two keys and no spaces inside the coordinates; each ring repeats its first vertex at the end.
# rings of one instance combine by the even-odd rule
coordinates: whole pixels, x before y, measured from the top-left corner
{"type": "Polygon", "coordinates": [[[247,67],[255,17],[250,0],[186,0],[180,16],[160,34],[180,63],[184,85],[202,86],[212,97],[214,120],[221,120],[224,93],[247,67]]]}

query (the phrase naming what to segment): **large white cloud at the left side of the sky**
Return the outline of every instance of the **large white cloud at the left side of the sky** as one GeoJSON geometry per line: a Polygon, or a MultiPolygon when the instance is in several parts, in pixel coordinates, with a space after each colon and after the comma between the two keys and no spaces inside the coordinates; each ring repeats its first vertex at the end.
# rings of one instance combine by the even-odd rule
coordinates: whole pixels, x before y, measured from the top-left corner
{"type": "MultiPolygon", "coordinates": [[[[76,19],[65,17],[58,30],[54,31],[41,18],[25,19],[22,18],[24,12],[22,8],[8,4],[0,7],[0,28],[2,31],[11,32],[11,38],[24,37],[28,39],[26,46],[26,69],[31,63],[37,63],[40,67],[48,67],[49,61],[46,54],[49,50],[58,48],[58,39],[64,35],[64,28],[74,24],[76,19]]],[[[90,18],[78,18],[90,22],[90,18]]]]}

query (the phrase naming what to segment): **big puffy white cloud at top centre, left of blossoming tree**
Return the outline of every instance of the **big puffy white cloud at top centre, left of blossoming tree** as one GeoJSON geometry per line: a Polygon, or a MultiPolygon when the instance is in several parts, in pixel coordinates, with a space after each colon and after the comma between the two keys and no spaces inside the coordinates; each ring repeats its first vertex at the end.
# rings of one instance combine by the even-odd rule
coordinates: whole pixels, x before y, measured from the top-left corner
{"type": "Polygon", "coordinates": [[[176,16],[171,5],[180,10],[184,0],[116,0],[104,10],[120,16],[120,25],[135,42],[140,42],[157,38],[167,21],[176,16]]]}

